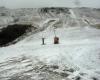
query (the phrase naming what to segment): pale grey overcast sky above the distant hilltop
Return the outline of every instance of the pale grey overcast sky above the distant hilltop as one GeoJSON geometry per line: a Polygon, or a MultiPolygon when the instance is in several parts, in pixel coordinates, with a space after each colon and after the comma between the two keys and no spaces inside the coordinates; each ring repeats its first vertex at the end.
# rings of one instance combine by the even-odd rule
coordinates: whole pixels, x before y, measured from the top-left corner
{"type": "MultiPolygon", "coordinates": [[[[0,6],[8,8],[74,7],[75,0],[0,0],[0,6]]],[[[99,7],[100,0],[80,0],[81,6],[99,7]]]]}

